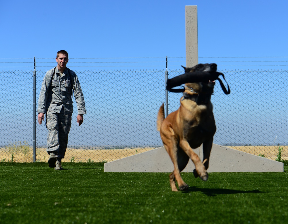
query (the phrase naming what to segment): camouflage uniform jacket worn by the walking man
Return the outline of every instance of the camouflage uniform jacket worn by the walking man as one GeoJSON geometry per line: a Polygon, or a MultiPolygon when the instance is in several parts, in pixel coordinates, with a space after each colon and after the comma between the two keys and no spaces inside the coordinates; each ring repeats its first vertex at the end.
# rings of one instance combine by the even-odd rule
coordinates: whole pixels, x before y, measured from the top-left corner
{"type": "Polygon", "coordinates": [[[75,72],[66,68],[63,75],[60,76],[57,67],[46,72],[38,100],[38,113],[47,113],[48,109],[60,113],[64,107],[64,113],[72,115],[72,89],[78,114],[86,114],[82,89],[75,72]]]}

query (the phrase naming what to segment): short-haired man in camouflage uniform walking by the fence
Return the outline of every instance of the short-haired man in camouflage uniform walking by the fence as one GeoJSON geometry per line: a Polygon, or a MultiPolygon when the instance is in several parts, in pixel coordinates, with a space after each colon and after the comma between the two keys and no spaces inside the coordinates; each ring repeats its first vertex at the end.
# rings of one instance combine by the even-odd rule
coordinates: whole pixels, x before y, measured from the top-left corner
{"type": "Polygon", "coordinates": [[[56,62],[57,66],[46,72],[43,79],[38,100],[38,123],[42,124],[44,114],[46,114],[49,167],[63,170],[61,159],[65,156],[73,113],[72,91],[77,103],[79,126],[83,122],[83,114],[86,114],[86,109],[77,75],[66,67],[67,51],[58,51],[56,62]]]}

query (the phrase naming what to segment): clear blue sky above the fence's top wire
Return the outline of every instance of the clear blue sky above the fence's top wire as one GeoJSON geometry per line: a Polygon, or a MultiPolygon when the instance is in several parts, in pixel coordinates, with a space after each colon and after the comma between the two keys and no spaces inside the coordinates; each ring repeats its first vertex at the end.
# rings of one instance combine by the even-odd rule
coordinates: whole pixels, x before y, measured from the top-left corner
{"type": "Polygon", "coordinates": [[[10,0],[0,58],[185,57],[185,5],[198,6],[199,57],[287,56],[288,1],[10,0]]]}

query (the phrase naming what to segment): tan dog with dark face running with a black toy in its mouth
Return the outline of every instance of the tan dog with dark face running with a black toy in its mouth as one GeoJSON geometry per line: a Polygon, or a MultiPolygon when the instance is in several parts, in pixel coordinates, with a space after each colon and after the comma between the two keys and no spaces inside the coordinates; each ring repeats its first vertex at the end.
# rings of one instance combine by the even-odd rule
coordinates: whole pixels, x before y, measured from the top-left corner
{"type": "MultiPolygon", "coordinates": [[[[183,68],[185,72],[216,72],[217,65],[198,64],[193,68],[183,68]]],[[[174,171],[169,175],[172,191],[178,191],[175,179],[180,190],[188,188],[180,172],[186,167],[189,158],[195,164],[194,176],[199,176],[203,181],[208,179],[206,170],[209,166],[213,136],[216,132],[213,106],[210,102],[214,85],[215,82],[211,81],[186,83],[178,110],[165,118],[164,104],[159,109],[157,129],[174,164],[174,171]],[[203,162],[192,150],[201,144],[203,144],[203,162]]]]}

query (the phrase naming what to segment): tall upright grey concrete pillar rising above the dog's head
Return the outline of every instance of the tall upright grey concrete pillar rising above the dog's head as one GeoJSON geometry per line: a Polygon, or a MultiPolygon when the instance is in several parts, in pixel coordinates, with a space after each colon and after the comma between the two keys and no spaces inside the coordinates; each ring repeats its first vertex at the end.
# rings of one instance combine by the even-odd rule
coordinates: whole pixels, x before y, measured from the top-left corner
{"type": "Polygon", "coordinates": [[[198,64],[197,5],[185,5],[186,67],[198,64]]]}

